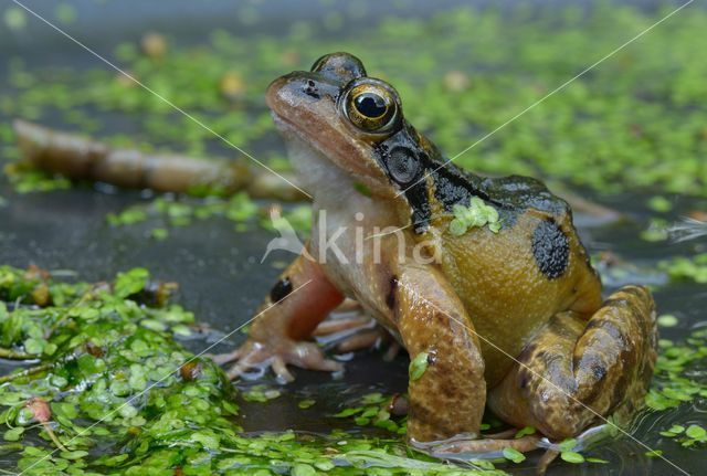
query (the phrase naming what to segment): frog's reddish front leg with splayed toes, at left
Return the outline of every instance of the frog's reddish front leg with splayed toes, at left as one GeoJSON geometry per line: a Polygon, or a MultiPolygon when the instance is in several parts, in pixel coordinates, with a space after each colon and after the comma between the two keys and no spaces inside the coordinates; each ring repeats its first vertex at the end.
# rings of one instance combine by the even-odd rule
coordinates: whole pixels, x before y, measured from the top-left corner
{"type": "Polygon", "coordinates": [[[294,378],[287,364],[304,369],[337,371],[341,364],[325,359],[315,342],[305,341],[344,296],[327,279],[321,267],[305,256],[295,260],[273,286],[251,325],[249,339],[233,352],[215,356],[218,363],[236,360],[228,370],[231,379],[247,369],[268,364],[281,380],[294,378]]]}

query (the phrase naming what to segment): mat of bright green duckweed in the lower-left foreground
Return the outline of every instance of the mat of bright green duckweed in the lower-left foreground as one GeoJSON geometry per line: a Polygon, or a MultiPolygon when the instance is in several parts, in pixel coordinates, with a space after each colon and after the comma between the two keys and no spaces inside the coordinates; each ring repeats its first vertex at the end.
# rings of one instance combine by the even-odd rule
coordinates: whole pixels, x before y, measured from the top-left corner
{"type": "MultiPolygon", "coordinates": [[[[17,456],[19,470],[28,476],[504,474],[443,464],[398,438],[341,431],[243,434],[235,421],[236,391],[223,371],[175,339],[189,331],[194,316],[168,303],[171,289],[144,268],[118,274],[112,283],[67,284],[36,268],[0,266],[2,357],[32,366],[0,378],[2,449],[17,456]]],[[[256,392],[257,401],[274,396],[264,388],[253,388],[251,396],[256,392]]],[[[379,399],[366,400],[373,401],[379,399]]]]}

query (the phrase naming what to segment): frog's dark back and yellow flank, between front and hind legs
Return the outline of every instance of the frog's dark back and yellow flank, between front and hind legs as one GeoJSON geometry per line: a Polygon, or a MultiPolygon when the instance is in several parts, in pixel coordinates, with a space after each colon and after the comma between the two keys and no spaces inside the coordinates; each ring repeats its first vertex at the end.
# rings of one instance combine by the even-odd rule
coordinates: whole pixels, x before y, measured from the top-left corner
{"type": "Polygon", "coordinates": [[[555,314],[593,313],[601,284],[572,224],[569,205],[528,177],[481,178],[437,171],[432,222],[441,232],[442,267],[462,298],[497,382],[525,343],[555,314]],[[502,229],[449,231],[452,207],[479,197],[499,212],[502,229]],[[503,349],[499,351],[497,348],[503,349]]]}

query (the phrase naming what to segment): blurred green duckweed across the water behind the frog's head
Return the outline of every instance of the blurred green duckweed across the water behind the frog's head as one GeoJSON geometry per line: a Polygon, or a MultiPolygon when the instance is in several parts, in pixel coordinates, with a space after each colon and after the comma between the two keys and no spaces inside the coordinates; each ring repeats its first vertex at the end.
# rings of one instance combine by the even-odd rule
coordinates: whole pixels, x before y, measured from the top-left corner
{"type": "MultiPolygon", "coordinates": [[[[337,21],[324,15],[323,24],[293,21],[275,36],[217,30],[208,43],[188,47],[150,33],[141,44],[119,44],[115,57],[226,140],[275,163],[283,150],[263,140],[275,137],[262,101],[265,87],[319,55],[350,51],[371,75],[395,86],[409,120],[453,157],[667,12],[603,2],[559,10],[518,6],[509,12],[464,7],[424,19],[387,15],[352,28],[349,21],[358,17],[337,13],[337,21]],[[331,28],[336,35],[321,42],[321,31],[331,28]],[[415,54],[401,55],[410,44],[415,54]]],[[[22,28],[24,17],[10,8],[4,22],[22,28]]],[[[73,14],[57,17],[68,21],[73,14]]],[[[662,195],[707,195],[706,71],[694,61],[707,40],[706,25],[700,8],[674,15],[455,162],[490,173],[552,176],[604,192],[650,187],[662,195]]],[[[139,133],[130,140],[138,147],[238,154],[102,64],[30,72],[15,59],[9,80],[13,91],[0,97],[0,113],[8,117],[53,117],[62,127],[125,144],[110,129],[114,123],[103,121],[108,112],[135,123],[139,133]]],[[[651,202],[661,211],[668,205],[664,199],[651,202]]]]}

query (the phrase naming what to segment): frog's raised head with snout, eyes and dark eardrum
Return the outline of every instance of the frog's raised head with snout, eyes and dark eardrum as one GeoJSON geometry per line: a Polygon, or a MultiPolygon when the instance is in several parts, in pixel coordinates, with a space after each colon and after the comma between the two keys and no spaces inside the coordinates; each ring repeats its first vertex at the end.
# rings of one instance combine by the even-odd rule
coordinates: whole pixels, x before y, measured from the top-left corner
{"type": "Polygon", "coordinates": [[[313,163],[313,156],[372,195],[390,199],[419,181],[423,163],[437,154],[404,120],[395,89],[367,76],[361,62],[348,53],[328,54],[310,72],[275,80],[266,101],[295,167],[309,176],[309,183],[307,177],[304,181],[310,191],[326,186],[314,180],[327,180],[314,170],[326,167],[320,160],[313,163]]]}

